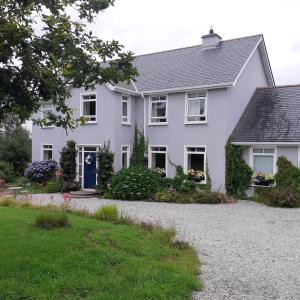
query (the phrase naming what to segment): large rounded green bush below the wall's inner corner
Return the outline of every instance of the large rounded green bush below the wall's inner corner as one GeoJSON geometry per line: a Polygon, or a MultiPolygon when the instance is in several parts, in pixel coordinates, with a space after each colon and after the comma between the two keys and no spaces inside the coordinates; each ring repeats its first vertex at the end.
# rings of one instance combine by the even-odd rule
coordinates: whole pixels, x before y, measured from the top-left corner
{"type": "Polygon", "coordinates": [[[112,178],[115,199],[148,200],[159,190],[160,176],[147,167],[136,166],[119,171],[112,178]]]}

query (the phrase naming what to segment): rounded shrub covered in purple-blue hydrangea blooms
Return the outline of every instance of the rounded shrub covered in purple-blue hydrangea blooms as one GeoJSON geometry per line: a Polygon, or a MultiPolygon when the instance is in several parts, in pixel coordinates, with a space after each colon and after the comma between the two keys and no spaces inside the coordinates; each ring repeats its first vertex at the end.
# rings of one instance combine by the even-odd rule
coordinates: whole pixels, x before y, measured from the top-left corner
{"type": "Polygon", "coordinates": [[[25,170],[24,176],[31,182],[46,184],[54,178],[57,169],[58,165],[54,160],[35,161],[25,170]]]}

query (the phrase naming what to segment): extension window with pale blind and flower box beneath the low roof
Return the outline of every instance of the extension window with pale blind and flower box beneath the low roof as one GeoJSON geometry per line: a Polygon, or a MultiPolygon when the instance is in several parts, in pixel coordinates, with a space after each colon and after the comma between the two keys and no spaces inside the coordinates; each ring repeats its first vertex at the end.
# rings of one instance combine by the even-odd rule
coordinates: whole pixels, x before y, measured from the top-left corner
{"type": "Polygon", "coordinates": [[[253,183],[256,185],[270,185],[274,182],[276,173],[276,159],[274,148],[252,149],[253,183]]]}

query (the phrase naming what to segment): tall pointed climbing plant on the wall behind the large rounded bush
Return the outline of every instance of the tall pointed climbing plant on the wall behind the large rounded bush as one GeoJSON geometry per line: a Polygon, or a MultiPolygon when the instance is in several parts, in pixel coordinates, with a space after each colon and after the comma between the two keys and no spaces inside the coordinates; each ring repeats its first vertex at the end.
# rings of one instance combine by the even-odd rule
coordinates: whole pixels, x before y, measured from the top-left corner
{"type": "Polygon", "coordinates": [[[130,157],[130,166],[147,166],[148,161],[146,158],[146,154],[147,143],[145,141],[145,136],[142,132],[138,130],[137,125],[135,125],[132,154],[130,157]]]}

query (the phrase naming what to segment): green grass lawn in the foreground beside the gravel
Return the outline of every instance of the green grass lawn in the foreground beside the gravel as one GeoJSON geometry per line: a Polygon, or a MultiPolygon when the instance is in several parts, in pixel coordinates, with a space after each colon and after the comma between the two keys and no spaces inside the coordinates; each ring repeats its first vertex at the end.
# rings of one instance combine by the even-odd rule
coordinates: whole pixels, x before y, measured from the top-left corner
{"type": "Polygon", "coordinates": [[[69,215],[43,230],[39,210],[0,207],[0,299],[189,299],[199,289],[192,248],[149,233],[69,215]]]}

